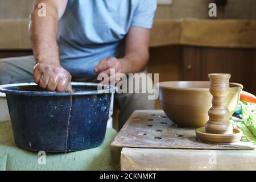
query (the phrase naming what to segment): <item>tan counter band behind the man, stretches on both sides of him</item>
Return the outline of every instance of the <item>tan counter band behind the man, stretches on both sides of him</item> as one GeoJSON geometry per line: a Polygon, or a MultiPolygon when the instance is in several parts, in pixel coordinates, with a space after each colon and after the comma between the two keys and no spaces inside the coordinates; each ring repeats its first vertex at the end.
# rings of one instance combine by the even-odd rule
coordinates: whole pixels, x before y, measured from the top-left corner
{"type": "MultiPolygon", "coordinates": [[[[0,49],[30,49],[28,19],[0,19],[0,49]]],[[[150,46],[256,47],[256,20],[155,20],[150,46]]]]}

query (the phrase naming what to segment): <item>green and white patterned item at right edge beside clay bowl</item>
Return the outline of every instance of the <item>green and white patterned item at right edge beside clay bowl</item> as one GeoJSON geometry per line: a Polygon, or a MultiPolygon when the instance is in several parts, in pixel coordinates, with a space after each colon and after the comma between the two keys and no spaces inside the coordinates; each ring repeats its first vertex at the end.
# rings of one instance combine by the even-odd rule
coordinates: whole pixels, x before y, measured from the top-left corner
{"type": "Polygon", "coordinates": [[[242,106],[243,123],[256,137],[256,111],[252,111],[251,105],[246,102],[240,102],[242,106]]]}

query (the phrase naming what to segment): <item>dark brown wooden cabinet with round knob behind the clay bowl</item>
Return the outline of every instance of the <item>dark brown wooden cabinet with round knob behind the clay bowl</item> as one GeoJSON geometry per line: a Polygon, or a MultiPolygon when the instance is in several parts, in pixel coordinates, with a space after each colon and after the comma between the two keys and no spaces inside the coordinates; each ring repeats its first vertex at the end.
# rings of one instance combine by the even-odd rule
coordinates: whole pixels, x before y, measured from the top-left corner
{"type": "Polygon", "coordinates": [[[209,73],[230,73],[230,82],[244,86],[256,94],[255,48],[208,48],[184,46],[183,80],[209,80],[209,73]]]}

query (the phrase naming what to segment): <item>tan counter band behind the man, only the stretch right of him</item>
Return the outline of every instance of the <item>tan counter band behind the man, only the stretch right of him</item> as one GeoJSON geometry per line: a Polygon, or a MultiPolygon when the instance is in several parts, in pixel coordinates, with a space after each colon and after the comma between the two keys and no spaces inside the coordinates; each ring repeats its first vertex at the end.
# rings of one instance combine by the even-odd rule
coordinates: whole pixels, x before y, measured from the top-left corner
{"type": "Polygon", "coordinates": [[[151,46],[256,47],[256,20],[155,20],[151,46]]]}

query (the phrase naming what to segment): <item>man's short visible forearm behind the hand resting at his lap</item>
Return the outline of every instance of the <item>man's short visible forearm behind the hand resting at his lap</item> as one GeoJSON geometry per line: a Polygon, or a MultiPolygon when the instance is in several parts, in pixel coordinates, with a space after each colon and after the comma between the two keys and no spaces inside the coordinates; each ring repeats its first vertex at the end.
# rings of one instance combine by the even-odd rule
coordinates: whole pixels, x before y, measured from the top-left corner
{"type": "Polygon", "coordinates": [[[122,65],[122,72],[127,75],[128,73],[144,71],[148,58],[148,50],[127,53],[123,58],[119,59],[122,65]]]}

